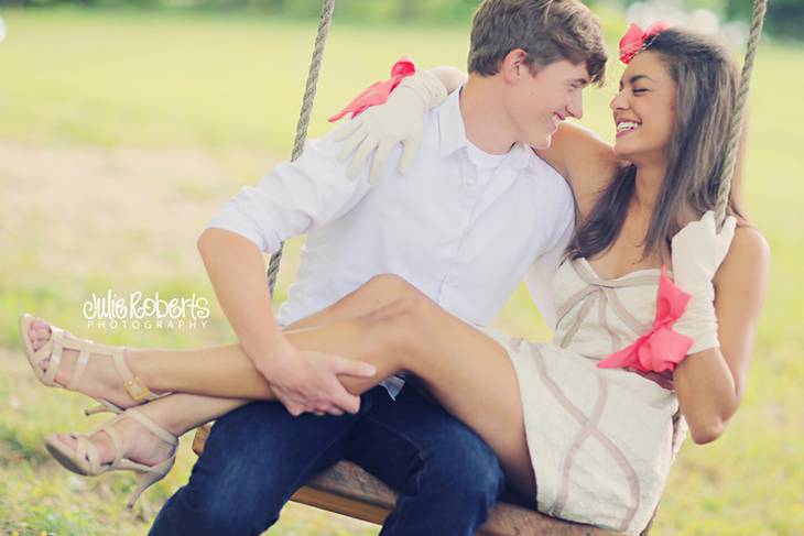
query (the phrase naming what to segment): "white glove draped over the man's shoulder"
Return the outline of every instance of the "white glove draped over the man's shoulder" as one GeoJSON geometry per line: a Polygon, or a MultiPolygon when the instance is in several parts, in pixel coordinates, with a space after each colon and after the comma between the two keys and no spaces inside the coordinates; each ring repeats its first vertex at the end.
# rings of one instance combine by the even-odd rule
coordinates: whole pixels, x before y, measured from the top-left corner
{"type": "Polygon", "coordinates": [[[424,114],[447,97],[444,85],[435,75],[421,70],[406,76],[391,91],[384,105],[372,106],[358,117],[343,123],[333,138],[344,141],[338,155],[341,162],[357,149],[347,174],[355,177],[366,160],[377,150],[369,179],[373,184],[380,176],[382,164],[394,144],[402,142],[404,152],[399,172],[404,175],[422,143],[424,114]]]}

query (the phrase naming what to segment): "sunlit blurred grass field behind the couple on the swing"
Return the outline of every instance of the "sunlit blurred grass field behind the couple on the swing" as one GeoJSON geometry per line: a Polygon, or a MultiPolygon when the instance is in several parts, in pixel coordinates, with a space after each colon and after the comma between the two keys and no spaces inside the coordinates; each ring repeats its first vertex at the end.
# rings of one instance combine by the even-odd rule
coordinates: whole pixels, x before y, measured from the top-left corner
{"type": "MultiPolygon", "coordinates": [[[[129,475],[84,480],[47,457],[42,438],[88,430],[85,400],[39,386],[17,340],[31,310],[77,335],[130,346],[233,341],[220,310],[200,330],[106,330],[82,304],[107,289],[214,300],[195,239],[222,200],[290,152],[315,22],[235,15],[1,11],[0,534],[143,534],[187,478],[178,467],[133,513],[129,475]],[[113,528],[110,528],[113,527],[113,528]]],[[[337,15],[336,15],[337,17],[337,15]]],[[[607,18],[610,36],[622,21],[607,18]]],[[[336,23],[311,131],[409,54],[461,66],[466,26],[336,23]]],[[[687,442],[654,534],[804,534],[804,48],[765,42],[750,107],[746,197],[767,234],[773,275],[740,412],[715,444],[687,442]]],[[[615,72],[616,75],[616,72],[615,72]]],[[[612,138],[612,87],[588,90],[584,122],[612,138]]],[[[297,264],[292,241],[282,296],[297,264]]],[[[520,288],[498,319],[545,338],[520,288]]],[[[275,534],[376,534],[291,505],[275,534]]],[[[274,534],[274,532],[272,532],[274,534]]]]}

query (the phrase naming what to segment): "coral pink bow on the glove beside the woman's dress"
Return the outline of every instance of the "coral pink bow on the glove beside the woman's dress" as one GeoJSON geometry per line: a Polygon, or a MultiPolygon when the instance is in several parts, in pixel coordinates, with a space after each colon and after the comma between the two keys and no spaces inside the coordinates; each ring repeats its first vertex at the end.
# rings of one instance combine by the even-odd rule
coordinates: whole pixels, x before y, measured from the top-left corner
{"type": "Polygon", "coordinates": [[[640,372],[672,371],[687,357],[693,339],[672,330],[684,313],[691,295],[675,286],[664,266],[659,277],[656,316],[653,327],[637,342],[612,353],[597,363],[598,369],[630,367],[640,372]]]}

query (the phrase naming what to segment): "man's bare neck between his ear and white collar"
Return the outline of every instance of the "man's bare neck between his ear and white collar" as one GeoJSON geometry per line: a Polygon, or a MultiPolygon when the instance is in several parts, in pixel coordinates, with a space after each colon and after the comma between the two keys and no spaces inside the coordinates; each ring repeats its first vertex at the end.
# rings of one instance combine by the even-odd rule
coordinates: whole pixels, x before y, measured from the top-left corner
{"type": "Polygon", "coordinates": [[[493,77],[469,75],[458,99],[467,140],[489,154],[506,154],[517,142],[500,94],[493,77]]]}

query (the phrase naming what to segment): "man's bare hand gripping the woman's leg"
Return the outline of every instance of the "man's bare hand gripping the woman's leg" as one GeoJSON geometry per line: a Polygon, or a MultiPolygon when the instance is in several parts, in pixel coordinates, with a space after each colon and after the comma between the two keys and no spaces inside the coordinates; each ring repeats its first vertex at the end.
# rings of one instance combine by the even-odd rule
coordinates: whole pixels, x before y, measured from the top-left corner
{"type": "Polygon", "coordinates": [[[371,378],[377,373],[369,363],[333,353],[300,351],[290,344],[270,360],[258,359],[257,368],[294,417],[305,412],[319,416],[357,413],[360,397],[346,391],[337,376],[371,378]]]}

